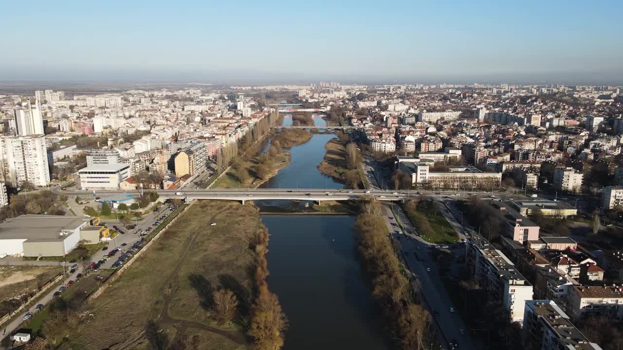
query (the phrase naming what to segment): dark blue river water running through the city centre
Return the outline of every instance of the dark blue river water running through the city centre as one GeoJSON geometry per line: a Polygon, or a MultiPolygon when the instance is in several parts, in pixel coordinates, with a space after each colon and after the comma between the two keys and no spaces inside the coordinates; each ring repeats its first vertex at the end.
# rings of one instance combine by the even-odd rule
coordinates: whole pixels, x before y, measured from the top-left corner
{"type": "MultiPolygon", "coordinates": [[[[286,116],[284,125],[291,123],[286,116]]],[[[326,125],[315,117],[316,125],[326,125]]],[[[270,188],[342,188],[316,166],[325,143],[319,133],[290,149],[290,166],[270,179],[270,188]]],[[[260,206],[281,206],[270,201],[260,206]]],[[[391,349],[376,319],[356,253],[354,218],[342,215],[261,215],[270,232],[269,288],[277,294],[290,327],[285,350],[391,349]]]]}

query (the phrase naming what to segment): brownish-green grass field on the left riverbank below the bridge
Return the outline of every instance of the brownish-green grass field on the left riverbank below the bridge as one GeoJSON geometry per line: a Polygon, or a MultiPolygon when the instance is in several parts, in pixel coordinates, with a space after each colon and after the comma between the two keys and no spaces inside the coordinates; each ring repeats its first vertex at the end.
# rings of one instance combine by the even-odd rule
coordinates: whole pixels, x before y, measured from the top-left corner
{"type": "Polygon", "coordinates": [[[149,319],[169,341],[184,334],[199,342],[197,349],[246,348],[240,326],[216,326],[193,285],[226,286],[244,305],[254,265],[248,237],[258,229],[264,227],[253,204],[195,202],[90,302],[93,321],[70,329],[60,349],[146,349],[143,331],[149,319]],[[191,278],[201,283],[191,283],[191,278]]]}

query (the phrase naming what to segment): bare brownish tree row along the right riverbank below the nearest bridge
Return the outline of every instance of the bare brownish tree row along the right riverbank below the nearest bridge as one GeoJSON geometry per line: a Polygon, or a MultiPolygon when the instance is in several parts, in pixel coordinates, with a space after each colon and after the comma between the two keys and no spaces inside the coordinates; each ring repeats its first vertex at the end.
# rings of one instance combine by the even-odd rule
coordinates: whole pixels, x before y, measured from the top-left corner
{"type": "Polygon", "coordinates": [[[392,245],[381,206],[364,202],[355,221],[358,249],[373,284],[373,296],[383,312],[392,338],[402,349],[424,349],[429,336],[430,315],[417,303],[416,290],[396,256],[399,243],[392,245]]]}

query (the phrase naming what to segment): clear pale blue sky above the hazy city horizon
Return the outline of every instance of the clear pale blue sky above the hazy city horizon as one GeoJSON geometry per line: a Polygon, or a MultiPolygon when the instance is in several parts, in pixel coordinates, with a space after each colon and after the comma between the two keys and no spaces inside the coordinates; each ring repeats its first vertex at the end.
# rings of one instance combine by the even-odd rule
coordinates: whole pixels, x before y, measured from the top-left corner
{"type": "Polygon", "coordinates": [[[0,80],[623,84],[623,1],[1,1],[0,80]]]}

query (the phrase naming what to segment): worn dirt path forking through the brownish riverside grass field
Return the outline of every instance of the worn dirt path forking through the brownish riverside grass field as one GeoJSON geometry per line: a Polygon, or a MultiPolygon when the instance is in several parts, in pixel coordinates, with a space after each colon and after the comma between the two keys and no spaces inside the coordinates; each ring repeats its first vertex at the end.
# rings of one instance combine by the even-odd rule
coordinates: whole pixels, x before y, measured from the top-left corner
{"type": "MultiPolygon", "coordinates": [[[[217,212],[212,214],[212,216],[210,217],[209,220],[207,220],[207,222],[214,221],[214,219],[219,214],[222,214],[222,212],[224,212],[225,210],[226,208],[218,210],[217,212]]],[[[171,273],[169,273],[169,275],[164,279],[163,283],[159,286],[159,290],[161,290],[163,294],[163,307],[162,307],[162,310],[159,311],[156,315],[154,315],[153,312],[150,312],[148,319],[155,319],[156,323],[159,323],[161,325],[169,324],[170,326],[173,326],[173,328],[177,329],[176,337],[179,336],[180,334],[184,334],[184,332],[186,331],[186,328],[197,328],[197,329],[202,329],[204,331],[208,331],[211,333],[219,334],[221,336],[224,336],[230,339],[231,341],[234,341],[234,343],[246,346],[247,339],[245,335],[243,333],[240,333],[239,331],[225,331],[223,329],[218,329],[218,328],[214,328],[211,326],[207,326],[206,324],[202,324],[199,322],[188,321],[186,319],[176,319],[176,318],[172,318],[171,316],[169,316],[169,303],[171,302],[171,297],[173,296],[173,293],[179,288],[179,268],[184,263],[184,260],[186,260],[186,257],[188,257],[188,253],[194,247],[197,237],[199,237],[199,234],[202,234],[202,232],[204,231],[201,229],[198,229],[193,234],[193,236],[188,240],[186,249],[184,250],[184,253],[182,254],[181,258],[179,258],[178,263],[175,265],[173,270],[171,270],[171,273]]],[[[140,342],[141,339],[143,339],[144,337],[145,337],[145,330],[142,330],[139,334],[136,335],[135,338],[128,339],[128,341],[122,344],[115,344],[115,347],[114,348],[111,347],[110,349],[114,349],[114,350],[129,349],[131,346],[134,346],[136,343],[140,342]]]]}

